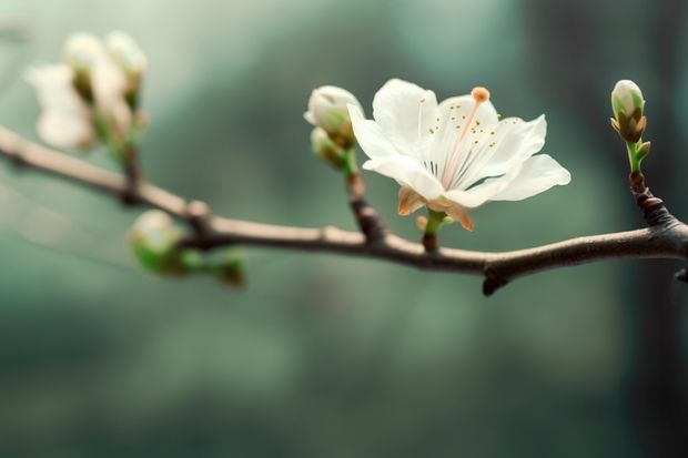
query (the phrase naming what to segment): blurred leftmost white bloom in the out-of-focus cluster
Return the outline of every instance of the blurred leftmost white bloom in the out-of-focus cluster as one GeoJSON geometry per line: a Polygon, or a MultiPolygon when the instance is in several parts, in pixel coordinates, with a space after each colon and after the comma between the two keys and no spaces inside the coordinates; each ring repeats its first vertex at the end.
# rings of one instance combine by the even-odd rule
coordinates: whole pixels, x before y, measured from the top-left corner
{"type": "Polygon", "coordinates": [[[70,67],[37,67],[26,78],[36,88],[43,109],[37,129],[45,142],[57,147],[77,147],[95,139],[90,109],[74,88],[74,71],[70,67]]]}

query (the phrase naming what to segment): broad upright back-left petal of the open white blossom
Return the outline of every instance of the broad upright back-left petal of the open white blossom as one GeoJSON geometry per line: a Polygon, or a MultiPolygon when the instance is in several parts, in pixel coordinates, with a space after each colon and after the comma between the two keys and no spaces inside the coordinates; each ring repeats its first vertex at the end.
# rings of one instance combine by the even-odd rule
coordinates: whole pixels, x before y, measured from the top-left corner
{"type": "Polygon", "coordinates": [[[415,156],[421,156],[422,142],[436,135],[442,124],[435,93],[396,79],[387,81],[375,94],[373,118],[397,150],[415,156]]]}

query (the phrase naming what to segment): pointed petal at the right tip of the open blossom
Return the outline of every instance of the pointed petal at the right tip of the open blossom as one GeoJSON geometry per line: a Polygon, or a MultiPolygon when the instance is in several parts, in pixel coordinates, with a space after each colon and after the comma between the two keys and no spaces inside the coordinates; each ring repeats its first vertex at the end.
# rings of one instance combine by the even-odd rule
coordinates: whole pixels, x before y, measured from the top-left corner
{"type": "Polygon", "coordinates": [[[547,154],[526,160],[517,176],[508,182],[492,201],[520,201],[547,191],[555,185],[568,184],[570,173],[547,154]]]}

